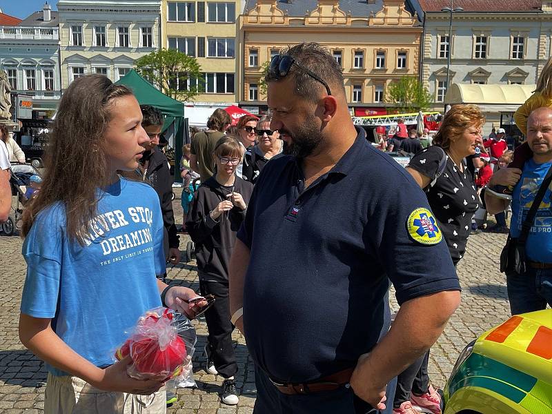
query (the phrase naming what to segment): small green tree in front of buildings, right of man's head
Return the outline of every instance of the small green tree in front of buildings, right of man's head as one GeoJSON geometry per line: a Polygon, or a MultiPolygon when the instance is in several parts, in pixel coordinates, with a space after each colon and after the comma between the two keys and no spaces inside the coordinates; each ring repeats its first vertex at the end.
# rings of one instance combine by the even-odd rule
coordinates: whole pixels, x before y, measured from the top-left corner
{"type": "Polygon", "coordinates": [[[433,97],[416,77],[405,76],[388,85],[386,101],[400,112],[418,112],[429,108],[433,97]]]}

